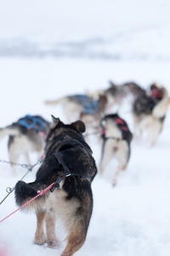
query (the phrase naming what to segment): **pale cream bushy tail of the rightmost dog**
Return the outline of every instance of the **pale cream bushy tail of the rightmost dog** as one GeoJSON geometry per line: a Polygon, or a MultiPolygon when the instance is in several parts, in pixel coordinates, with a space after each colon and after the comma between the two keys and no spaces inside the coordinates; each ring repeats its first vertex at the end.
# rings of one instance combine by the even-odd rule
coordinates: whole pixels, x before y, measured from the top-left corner
{"type": "Polygon", "coordinates": [[[153,109],[153,115],[157,119],[162,118],[165,115],[165,113],[167,112],[167,108],[169,105],[170,105],[170,98],[169,97],[163,98],[161,100],[161,102],[156,104],[156,107],[153,109]]]}

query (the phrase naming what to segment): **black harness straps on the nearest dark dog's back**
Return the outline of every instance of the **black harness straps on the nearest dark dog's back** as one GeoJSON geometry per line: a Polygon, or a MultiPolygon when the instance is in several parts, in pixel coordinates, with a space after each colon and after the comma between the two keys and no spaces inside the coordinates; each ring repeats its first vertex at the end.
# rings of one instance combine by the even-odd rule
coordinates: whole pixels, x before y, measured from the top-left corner
{"type": "MultiPolygon", "coordinates": [[[[61,143],[59,145],[59,149],[62,148],[62,146],[66,143],[77,143],[76,147],[74,148],[84,148],[88,153],[91,151],[86,148],[80,141],[77,141],[74,138],[67,138],[65,139],[65,141],[63,143],[61,143]]],[[[58,149],[58,150],[59,150],[58,149]]],[[[65,177],[69,177],[71,175],[73,176],[78,176],[78,177],[82,177],[82,178],[88,178],[90,180],[89,174],[88,172],[71,172],[71,170],[69,169],[69,167],[66,165],[65,160],[64,160],[64,154],[62,152],[56,152],[54,153],[54,157],[56,158],[56,160],[58,160],[59,165],[63,167],[63,176],[58,177],[58,179],[56,180],[56,182],[54,183],[53,187],[50,189],[50,191],[53,193],[54,189],[59,188],[59,183],[65,178],[65,177]]]]}

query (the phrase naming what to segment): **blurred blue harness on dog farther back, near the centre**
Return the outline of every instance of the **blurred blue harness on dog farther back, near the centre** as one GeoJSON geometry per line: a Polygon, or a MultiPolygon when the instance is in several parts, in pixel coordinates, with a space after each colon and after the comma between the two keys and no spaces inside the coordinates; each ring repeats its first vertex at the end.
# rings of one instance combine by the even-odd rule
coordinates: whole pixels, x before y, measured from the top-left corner
{"type": "Polygon", "coordinates": [[[95,114],[99,111],[99,105],[97,101],[94,101],[89,96],[76,95],[78,102],[82,103],[82,112],[88,114],[95,114]]]}

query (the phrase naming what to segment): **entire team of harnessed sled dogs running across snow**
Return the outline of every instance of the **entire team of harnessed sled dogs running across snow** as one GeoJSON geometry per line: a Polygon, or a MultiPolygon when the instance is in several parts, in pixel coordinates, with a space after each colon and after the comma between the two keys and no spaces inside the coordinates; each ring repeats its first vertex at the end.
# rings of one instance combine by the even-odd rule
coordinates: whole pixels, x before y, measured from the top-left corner
{"type": "Polygon", "coordinates": [[[34,243],[38,245],[47,243],[51,248],[59,246],[55,235],[56,216],[62,220],[68,235],[61,256],[71,256],[85,242],[93,212],[91,183],[97,174],[97,166],[85,136],[89,131],[100,135],[100,175],[112,159],[117,160],[112,180],[112,184],[116,185],[119,173],[127,168],[133,137],[141,139],[143,133],[147,132],[150,145],[156,143],[170,98],[161,84],[151,84],[149,90],[144,90],[133,82],[121,85],[110,82],[106,90],[65,96],[45,103],[51,106],[61,104],[69,125],[54,116],[49,122],[39,115],[26,115],[12,125],[1,128],[0,139],[8,136],[8,155],[14,172],[14,163],[21,154],[31,164],[29,153],[36,152],[39,159],[44,151],[42,166],[37,171],[35,181],[16,183],[15,201],[20,207],[38,195],[38,190],[54,183],[50,191],[32,201],[26,209],[36,212],[34,243]],[[133,134],[126,120],[111,111],[115,106],[121,108],[126,97],[130,98],[132,108],[133,134]]]}

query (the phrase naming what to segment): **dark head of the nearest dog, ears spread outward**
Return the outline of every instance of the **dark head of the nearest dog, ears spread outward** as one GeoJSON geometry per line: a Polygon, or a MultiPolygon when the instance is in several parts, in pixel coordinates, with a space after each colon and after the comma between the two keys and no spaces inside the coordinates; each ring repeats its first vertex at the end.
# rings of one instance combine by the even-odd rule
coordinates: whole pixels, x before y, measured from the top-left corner
{"type": "Polygon", "coordinates": [[[71,125],[65,125],[59,118],[55,118],[52,115],[52,125],[48,133],[47,141],[51,141],[54,137],[59,135],[66,135],[70,133],[82,134],[86,130],[84,123],[81,120],[71,123],[71,125]]]}

